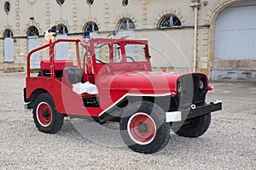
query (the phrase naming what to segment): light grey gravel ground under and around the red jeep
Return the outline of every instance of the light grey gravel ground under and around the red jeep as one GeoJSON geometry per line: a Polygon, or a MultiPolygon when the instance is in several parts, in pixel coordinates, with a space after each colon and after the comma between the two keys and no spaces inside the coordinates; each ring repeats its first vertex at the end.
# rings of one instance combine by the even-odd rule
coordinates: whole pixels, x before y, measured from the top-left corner
{"type": "Polygon", "coordinates": [[[172,133],[152,155],[128,149],[118,124],[68,119],[59,133],[40,133],[24,110],[25,73],[0,72],[0,169],[256,169],[256,84],[212,82],[208,101],[221,99],[207,133],[172,133]]]}

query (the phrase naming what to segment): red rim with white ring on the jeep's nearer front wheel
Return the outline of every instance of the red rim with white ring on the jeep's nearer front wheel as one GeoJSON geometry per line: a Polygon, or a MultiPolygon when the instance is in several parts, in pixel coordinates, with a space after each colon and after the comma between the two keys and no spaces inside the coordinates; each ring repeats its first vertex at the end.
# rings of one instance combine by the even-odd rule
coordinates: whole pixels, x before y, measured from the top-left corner
{"type": "Polygon", "coordinates": [[[137,113],[130,117],[127,131],[137,144],[149,144],[154,140],[156,127],[150,116],[145,113],[137,113]]]}

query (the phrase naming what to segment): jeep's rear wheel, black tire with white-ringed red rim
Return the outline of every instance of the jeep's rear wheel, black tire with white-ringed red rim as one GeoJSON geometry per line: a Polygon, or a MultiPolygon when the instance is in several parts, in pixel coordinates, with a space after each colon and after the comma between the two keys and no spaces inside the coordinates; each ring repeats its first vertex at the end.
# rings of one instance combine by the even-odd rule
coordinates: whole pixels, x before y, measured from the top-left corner
{"type": "Polygon", "coordinates": [[[33,105],[33,118],[38,130],[43,133],[57,133],[61,130],[64,116],[56,111],[50,94],[38,95],[33,105]]]}

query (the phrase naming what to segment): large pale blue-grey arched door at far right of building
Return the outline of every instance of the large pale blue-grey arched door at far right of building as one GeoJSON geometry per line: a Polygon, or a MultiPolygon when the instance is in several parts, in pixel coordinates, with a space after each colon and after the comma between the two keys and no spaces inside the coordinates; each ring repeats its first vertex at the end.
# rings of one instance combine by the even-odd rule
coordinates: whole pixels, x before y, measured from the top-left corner
{"type": "MultiPolygon", "coordinates": [[[[252,1],[254,2],[254,1],[252,1]]],[[[215,59],[256,59],[256,4],[224,9],[215,26],[215,59]]]]}

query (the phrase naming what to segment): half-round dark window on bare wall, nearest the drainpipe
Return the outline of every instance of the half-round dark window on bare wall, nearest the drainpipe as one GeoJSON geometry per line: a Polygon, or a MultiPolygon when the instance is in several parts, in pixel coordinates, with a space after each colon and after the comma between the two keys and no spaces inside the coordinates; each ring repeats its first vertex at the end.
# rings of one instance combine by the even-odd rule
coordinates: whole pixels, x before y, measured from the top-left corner
{"type": "Polygon", "coordinates": [[[174,14],[166,14],[160,19],[159,29],[181,27],[181,21],[174,14]]]}

